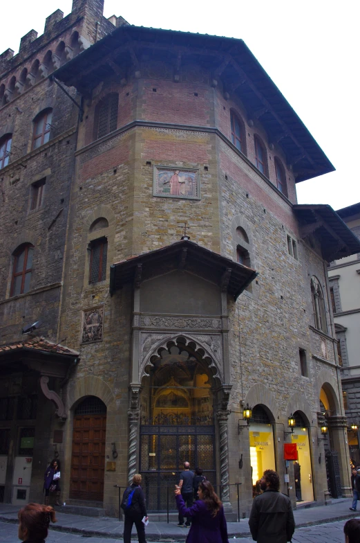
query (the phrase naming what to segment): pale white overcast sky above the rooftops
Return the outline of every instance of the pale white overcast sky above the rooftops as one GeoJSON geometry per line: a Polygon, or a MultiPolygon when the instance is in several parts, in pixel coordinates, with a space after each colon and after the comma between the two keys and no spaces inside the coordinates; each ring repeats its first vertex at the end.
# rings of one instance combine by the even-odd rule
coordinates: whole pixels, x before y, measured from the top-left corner
{"type": "MultiPolygon", "coordinates": [[[[20,38],[44,30],[71,0],[17,0],[1,13],[0,53],[17,53],[20,38]]],[[[356,0],[230,0],[214,2],[105,0],[104,15],[130,24],[242,38],[321,145],[336,172],[297,185],[300,204],[334,209],[360,202],[357,127],[360,124],[356,0]]]]}

